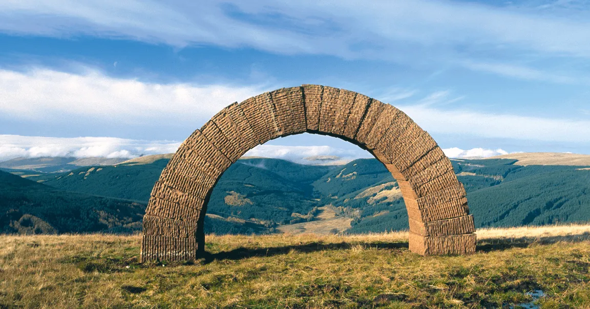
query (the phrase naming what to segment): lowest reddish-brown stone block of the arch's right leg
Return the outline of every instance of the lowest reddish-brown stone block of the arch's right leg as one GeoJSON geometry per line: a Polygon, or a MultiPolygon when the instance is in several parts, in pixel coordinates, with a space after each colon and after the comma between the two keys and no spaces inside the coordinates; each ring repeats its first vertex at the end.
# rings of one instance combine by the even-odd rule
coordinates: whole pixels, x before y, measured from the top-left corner
{"type": "Polygon", "coordinates": [[[422,236],[409,232],[409,250],[419,255],[460,255],[476,252],[476,234],[422,236]]]}

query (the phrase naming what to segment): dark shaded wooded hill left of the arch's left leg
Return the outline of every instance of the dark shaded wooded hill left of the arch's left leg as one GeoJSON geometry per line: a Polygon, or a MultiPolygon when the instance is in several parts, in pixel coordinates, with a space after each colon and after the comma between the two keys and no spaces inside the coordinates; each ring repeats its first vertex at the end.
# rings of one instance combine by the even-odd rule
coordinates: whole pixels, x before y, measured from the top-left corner
{"type": "Polygon", "coordinates": [[[0,231],[21,234],[132,232],[145,203],[66,192],[0,171],[0,231]]]}

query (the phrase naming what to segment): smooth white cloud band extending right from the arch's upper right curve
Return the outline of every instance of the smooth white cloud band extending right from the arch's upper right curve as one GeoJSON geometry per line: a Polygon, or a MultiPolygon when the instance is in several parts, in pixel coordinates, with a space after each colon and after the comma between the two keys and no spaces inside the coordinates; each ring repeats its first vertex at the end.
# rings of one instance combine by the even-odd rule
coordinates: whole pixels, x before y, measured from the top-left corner
{"type": "Polygon", "coordinates": [[[549,142],[590,142],[588,120],[441,110],[422,105],[398,108],[431,133],[549,142]]]}

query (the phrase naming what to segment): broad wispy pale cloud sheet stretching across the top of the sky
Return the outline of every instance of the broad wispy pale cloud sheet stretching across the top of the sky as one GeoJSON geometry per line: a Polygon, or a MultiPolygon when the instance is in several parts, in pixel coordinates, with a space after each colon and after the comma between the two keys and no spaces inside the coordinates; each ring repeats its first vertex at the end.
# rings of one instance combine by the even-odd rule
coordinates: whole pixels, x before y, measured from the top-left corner
{"type": "Polygon", "coordinates": [[[452,1],[4,1],[0,29],[89,34],[176,46],[215,44],[287,54],[407,58],[469,46],[590,57],[590,23],[578,12],[452,1]]]}

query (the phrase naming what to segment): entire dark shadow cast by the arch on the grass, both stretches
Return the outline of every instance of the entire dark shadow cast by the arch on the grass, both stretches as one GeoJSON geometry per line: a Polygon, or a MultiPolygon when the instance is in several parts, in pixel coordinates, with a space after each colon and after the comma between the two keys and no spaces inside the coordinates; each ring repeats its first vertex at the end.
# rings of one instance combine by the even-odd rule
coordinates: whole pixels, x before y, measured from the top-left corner
{"type": "MultiPolygon", "coordinates": [[[[519,238],[497,238],[481,239],[476,247],[477,252],[501,251],[511,248],[527,248],[533,244],[555,244],[556,242],[581,242],[590,240],[590,233],[585,232],[578,235],[568,236],[546,236],[546,237],[519,237],[519,238]]],[[[350,249],[353,246],[363,246],[365,248],[378,249],[408,249],[407,242],[340,242],[337,244],[324,244],[321,242],[311,242],[302,245],[274,246],[270,248],[237,248],[231,251],[218,253],[205,252],[204,263],[208,264],[218,260],[240,260],[253,257],[273,257],[274,255],[288,254],[291,251],[297,252],[316,252],[323,250],[350,249]]]]}

